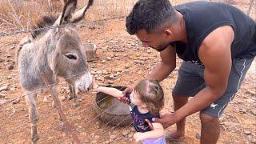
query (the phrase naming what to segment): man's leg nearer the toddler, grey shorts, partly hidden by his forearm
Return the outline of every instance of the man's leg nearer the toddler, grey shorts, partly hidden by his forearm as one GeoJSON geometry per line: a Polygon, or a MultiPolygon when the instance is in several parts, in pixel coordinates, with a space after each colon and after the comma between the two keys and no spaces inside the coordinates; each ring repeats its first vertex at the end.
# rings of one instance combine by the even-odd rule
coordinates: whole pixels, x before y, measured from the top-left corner
{"type": "MultiPolygon", "coordinates": [[[[178,110],[188,102],[188,98],[193,97],[198,91],[202,90],[206,85],[200,71],[203,66],[193,64],[191,62],[182,62],[182,66],[178,70],[178,80],[173,90],[174,110],[178,110]]],[[[177,129],[166,133],[166,140],[181,140],[185,135],[186,118],[176,123],[177,129]]]]}

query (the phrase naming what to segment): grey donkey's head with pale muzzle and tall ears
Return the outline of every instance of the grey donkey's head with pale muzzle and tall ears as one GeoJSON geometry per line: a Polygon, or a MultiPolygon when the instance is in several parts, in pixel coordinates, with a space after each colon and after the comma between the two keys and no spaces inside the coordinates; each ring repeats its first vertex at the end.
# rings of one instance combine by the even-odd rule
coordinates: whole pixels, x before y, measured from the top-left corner
{"type": "MultiPolygon", "coordinates": [[[[87,91],[90,89],[92,77],[86,62],[86,51],[78,32],[72,27],[62,25],[79,22],[84,17],[86,10],[92,5],[93,0],[89,0],[87,6],[74,13],[77,0],[69,0],[63,8],[62,14],[53,26],[57,29],[49,30],[40,39],[47,39],[47,62],[50,70],[61,78],[66,78],[66,82],[74,86],[75,92],[87,91]]],[[[46,18],[47,19],[47,18],[46,18]]],[[[50,20],[48,18],[48,20],[50,20]]],[[[33,35],[33,34],[32,34],[33,35]]],[[[36,34],[34,35],[36,37],[36,34]]]]}

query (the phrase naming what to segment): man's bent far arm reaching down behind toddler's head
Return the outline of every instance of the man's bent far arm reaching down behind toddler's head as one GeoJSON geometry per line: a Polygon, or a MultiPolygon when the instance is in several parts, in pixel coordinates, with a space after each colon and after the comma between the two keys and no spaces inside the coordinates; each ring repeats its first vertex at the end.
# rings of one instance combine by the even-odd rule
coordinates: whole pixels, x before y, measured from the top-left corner
{"type": "Polygon", "coordinates": [[[157,79],[158,81],[162,81],[167,78],[168,75],[175,69],[176,67],[176,50],[175,47],[170,46],[160,52],[160,57],[162,61],[158,64],[158,66],[151,71],[150,74],[146,76],[146,79],[157,79]]]}

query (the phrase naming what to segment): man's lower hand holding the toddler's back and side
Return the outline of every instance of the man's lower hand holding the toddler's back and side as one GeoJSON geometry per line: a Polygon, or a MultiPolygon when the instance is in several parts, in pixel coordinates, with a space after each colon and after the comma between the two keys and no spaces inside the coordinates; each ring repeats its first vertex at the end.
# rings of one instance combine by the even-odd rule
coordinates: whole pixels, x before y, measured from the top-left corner
{"type": "Polygon", "coordinates": [[[152,121],[161,123],[165,129],[178,122],[175,113],[165,114],[162,118],[152,118],[152,121]]]}

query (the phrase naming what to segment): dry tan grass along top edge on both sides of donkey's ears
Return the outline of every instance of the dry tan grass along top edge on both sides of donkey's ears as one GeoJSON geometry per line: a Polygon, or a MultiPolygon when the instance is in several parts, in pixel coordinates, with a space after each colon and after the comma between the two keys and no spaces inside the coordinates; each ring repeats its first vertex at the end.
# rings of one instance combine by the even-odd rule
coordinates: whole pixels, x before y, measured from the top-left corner
{"type": "MultiPolygon", "coordinates": [[[[128,14],[137,0],[94,0],[86,19],[95,20],[128,14]]],[[[78,1],[78,7],[86,5],[78,1]]],[[[62,11],[61,2],[54,1],[49,6],[47,0],[1,0],[0,29],[5,31],[30,29],[36,20],[45,14],[56,14],[62,11]]]]}

